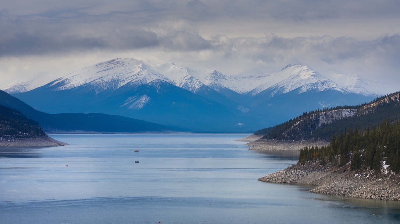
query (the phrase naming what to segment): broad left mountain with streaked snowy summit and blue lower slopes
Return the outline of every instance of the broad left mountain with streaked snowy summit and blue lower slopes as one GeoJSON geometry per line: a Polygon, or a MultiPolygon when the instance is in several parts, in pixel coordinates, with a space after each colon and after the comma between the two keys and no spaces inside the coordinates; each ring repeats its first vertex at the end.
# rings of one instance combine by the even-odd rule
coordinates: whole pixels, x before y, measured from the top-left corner
{"type": "MultiPolygon", "coordinates": [[[[175,72],[188,71],[173,65],[170,67],[175,72]]],[[[208,86],[188,87],[197,94],[178,87],[188,86],[185,83],[190,80],[198,83],[183,72],[186,81],[182,77],[176,79],[182,81],[179,84],[140,61],[115,59],[14,96],[46,113],[106,113],[181,129],[196,127],[192,131],[218,132],[221,127],[235,129],[237,123],[244,123],[238,117],[241,111],[219,103],[229,100],[208,86]]],[[[240,127],[235,131],[244,132],[240,127]]]]}

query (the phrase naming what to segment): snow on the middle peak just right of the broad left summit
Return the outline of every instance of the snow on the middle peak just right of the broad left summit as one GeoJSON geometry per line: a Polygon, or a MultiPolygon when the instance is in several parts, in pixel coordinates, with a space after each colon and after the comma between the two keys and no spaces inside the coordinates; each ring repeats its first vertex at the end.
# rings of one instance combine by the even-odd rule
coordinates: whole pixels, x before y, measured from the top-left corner
{"type": "Polygon", "coordinates": [[[204,86],[204,83],[196,78],[198,74],[195,71],[191,71],[188,67],[178,67],[174,63],[164,63],[156,65],[154,69],[172,80],[176,86],[192,93],[196,93],[204,86]]]}

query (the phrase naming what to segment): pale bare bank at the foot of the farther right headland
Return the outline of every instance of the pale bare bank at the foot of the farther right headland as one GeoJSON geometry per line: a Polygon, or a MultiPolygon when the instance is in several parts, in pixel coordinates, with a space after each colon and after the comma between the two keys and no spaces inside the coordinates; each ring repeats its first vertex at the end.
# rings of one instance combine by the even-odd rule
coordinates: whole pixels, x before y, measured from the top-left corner
{"type": "Polygon", "coordinates": [[[327,141],[291,141],[291,140],[269,140],[269,139],[258,139],[245,145],[251,146],[251,150],[299,150],[309,146],[324,146],[329,145],[327,141]]]}

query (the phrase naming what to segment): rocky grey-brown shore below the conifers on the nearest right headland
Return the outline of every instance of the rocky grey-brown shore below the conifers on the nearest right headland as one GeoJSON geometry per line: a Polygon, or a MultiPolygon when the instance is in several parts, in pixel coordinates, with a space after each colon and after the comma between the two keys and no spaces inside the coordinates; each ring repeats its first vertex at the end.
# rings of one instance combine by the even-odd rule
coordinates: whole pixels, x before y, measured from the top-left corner
{"type": "Polygon", "coordinates": [[[296,164],[258,180],[274,183],[310,184],[310,192],[355,198],[400,200],[400,174],[382,170],[350,170],[318,162],[296,164]]]}

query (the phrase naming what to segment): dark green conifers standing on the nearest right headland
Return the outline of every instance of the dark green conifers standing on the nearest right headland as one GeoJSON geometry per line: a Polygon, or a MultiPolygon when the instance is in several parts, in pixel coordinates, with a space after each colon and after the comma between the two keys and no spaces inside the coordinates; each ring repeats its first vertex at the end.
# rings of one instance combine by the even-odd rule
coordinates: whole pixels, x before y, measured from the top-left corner
{"type": "Polygon", "coordinates": [[[299,163],[319,161],[338,167],[350,163],[352,170],[370,168],[381,172],[384,165],[394,173],[400,172],[400,120],[391,123],[389,119],[380,126],[365,131],[357,127],[340,135],[334,135],[330,145],[304,147],[300,150],[299,163]]]}

